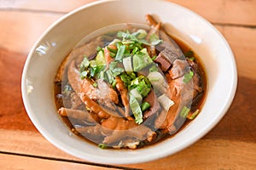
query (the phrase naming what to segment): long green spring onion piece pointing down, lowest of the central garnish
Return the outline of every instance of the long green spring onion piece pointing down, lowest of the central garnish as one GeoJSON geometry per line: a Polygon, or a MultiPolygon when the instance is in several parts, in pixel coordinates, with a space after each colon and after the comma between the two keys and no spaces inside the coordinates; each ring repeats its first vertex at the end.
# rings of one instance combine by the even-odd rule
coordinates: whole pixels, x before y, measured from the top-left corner
{"type": "Polygon", "coordinates": [[[137,124],[141,124],[143,122],[143,111],[141,110],[141,107],[137,99],[132,94],[130,94],[129,103],[130,103],[132,114],[135,117],[135,122],[137,124]]]}

